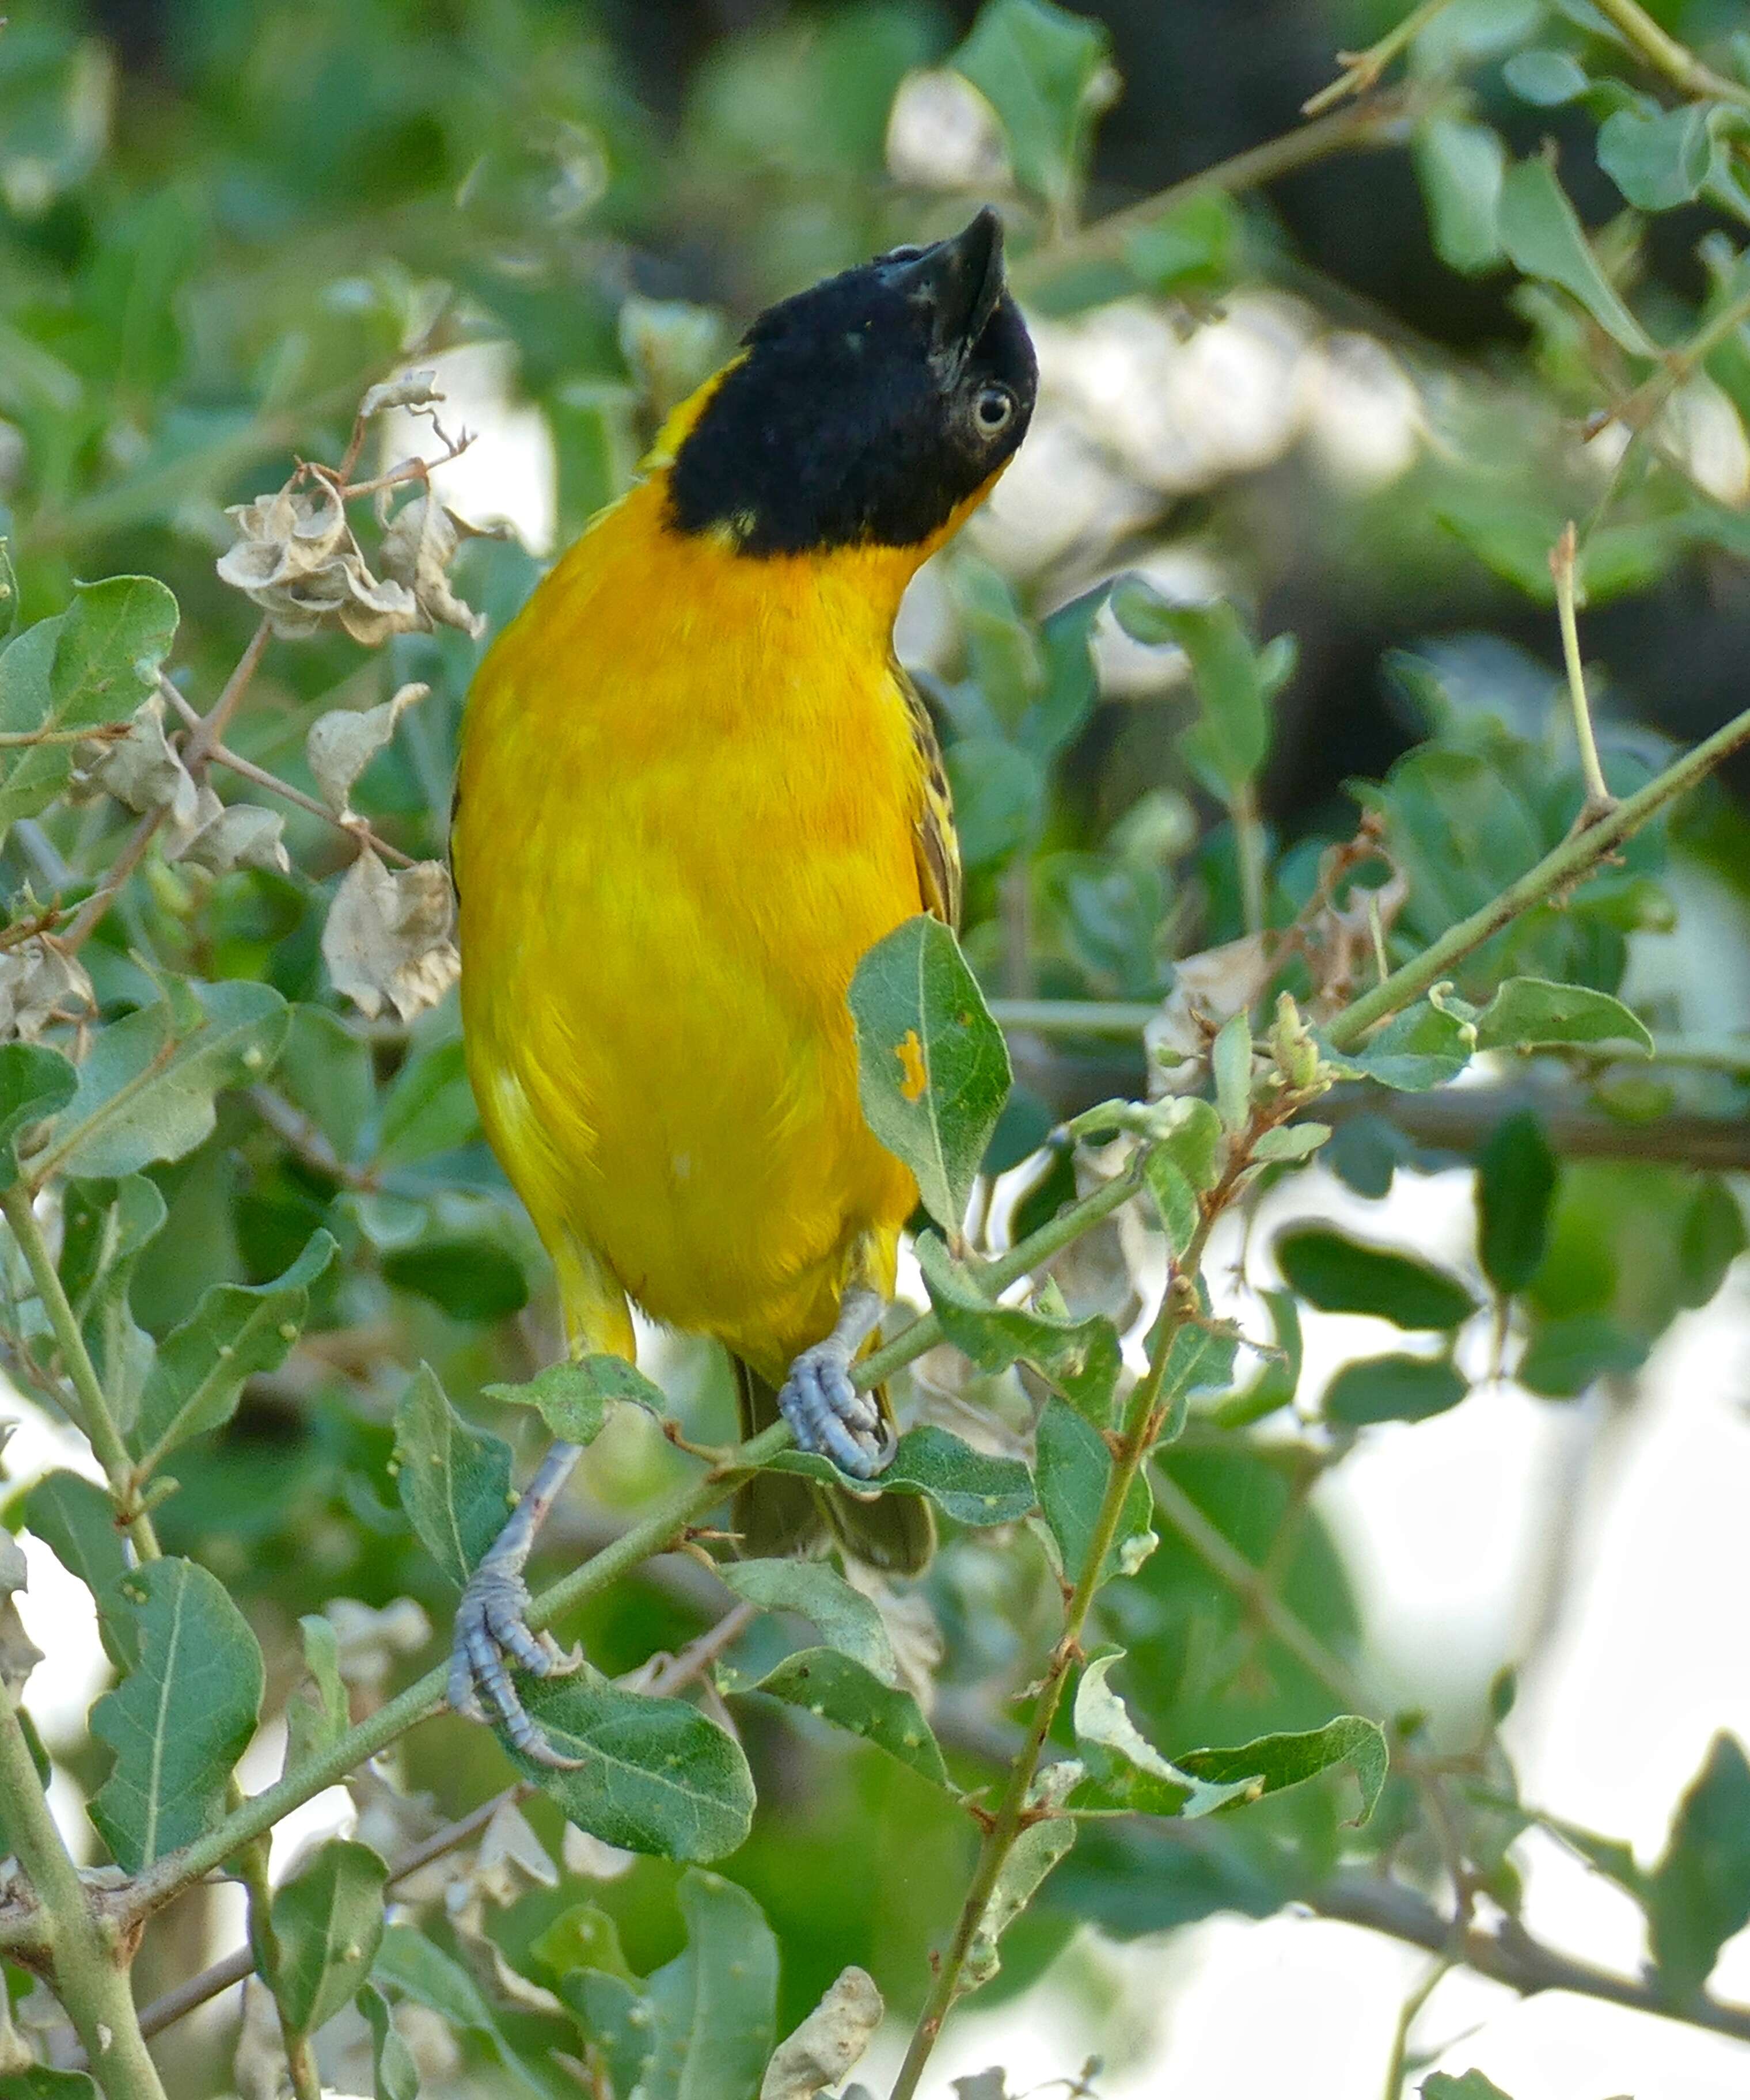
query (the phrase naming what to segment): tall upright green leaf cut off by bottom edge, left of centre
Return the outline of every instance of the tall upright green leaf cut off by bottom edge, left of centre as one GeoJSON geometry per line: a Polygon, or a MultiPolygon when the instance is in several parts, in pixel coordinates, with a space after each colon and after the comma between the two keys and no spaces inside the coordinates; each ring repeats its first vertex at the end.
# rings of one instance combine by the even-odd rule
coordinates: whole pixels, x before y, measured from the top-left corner
{"type": "Polygon", "coordinates": [[[777,2037],[777,1940],[754,1898],[714,1873],[676,1890],[687,1951],[647,1984],[639,2100],[754,2100],[777,2037]]]}

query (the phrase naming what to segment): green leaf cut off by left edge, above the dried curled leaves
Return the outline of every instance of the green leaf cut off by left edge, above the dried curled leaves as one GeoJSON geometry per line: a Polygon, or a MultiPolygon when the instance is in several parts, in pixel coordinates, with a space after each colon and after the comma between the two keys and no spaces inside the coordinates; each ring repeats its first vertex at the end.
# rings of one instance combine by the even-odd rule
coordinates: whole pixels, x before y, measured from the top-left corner
{"type": "MultiPolygon", "coordinates": [[[[0,651],[0,731],[124,722],[158,682],[174,636],[176,601],[153,578],[76,584],[65,613],[25,628],[0,651]]],[[[71,743],[0,750],[0,834],[61,794],[74,752],[71,743]]]]}

